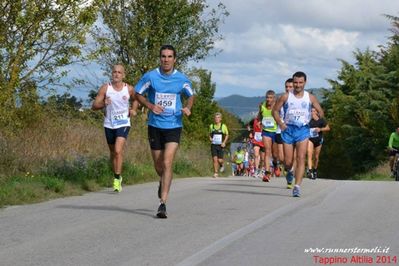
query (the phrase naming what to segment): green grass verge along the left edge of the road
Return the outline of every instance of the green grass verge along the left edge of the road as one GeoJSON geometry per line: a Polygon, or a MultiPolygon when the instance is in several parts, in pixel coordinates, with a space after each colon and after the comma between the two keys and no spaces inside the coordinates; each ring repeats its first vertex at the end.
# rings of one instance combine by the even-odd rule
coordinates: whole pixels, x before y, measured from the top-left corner
{"type": "MultiPolygon", "coordinates": [[[[181,156],[174,163],[174,178],[210,174],[203,171],[203,167],[181,156]]],[[[123,165],[125,185],[158,180],[152,161],[148,164],[125,162],[123,165]]],[[[53,161],[38,173],[27,172],[25,175],[0,178],[0,207],[82,195],[111,187],[112,181],[113,173],[107,157],[53,161]]]]}

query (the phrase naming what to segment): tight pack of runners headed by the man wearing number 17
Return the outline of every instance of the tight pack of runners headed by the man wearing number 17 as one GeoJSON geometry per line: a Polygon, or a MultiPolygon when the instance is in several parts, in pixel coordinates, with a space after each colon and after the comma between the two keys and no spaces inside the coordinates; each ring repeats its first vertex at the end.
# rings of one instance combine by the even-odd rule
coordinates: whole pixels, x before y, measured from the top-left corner
{"type": "Polygon", "coordinates": [[[304,90],[306,74],[296,72],[285,82],[285,93],[276,99],[268,90],[265,101],[253,119],[249,143],[232,155],[233,172],[261,177],[285,173],[287,188],[294,197],[301,194],[302,176],[307,157],[307,176],[316,179],[323,132],[330,127],[316,97],[304,90]]]}

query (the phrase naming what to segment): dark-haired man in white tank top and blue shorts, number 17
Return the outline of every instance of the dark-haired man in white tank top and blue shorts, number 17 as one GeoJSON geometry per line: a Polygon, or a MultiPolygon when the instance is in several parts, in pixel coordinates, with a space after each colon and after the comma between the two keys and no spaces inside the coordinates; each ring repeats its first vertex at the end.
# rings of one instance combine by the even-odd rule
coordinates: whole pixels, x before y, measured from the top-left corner
{"type": "MultiPolygon", "coordinates": [[[[290,170],[293,164],[294,147],[296,150],[294,197],[300,196],[300,185],[305,172],[305,157],[309,140],[309,121],[313,106],[322,118],[324,116],[317,98],[305,91],[306,74],[296,72],[293,75],[294,90],[281,96],[273,107],[273,117],[281,128],[283,139],[285,169],[290,170]],[[284,120],[280,117],[280,109],[284,106],[284,120]]],[[[287,179],[289,183],[290,180],[287,179]]]]}

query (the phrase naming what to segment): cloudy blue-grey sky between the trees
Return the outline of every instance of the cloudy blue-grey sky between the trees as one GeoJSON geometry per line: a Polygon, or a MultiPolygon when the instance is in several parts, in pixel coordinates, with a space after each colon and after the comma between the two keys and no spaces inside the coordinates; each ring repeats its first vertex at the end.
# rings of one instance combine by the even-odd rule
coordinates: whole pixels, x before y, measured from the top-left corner
{"type": "MultiPolygon", "coordinates": [[[[207,1],[211,7],[219,2],[207,1]]],[[[339,59],[354,63],[357,49],[385,45],[391,25],[383,14],[399,16],[399,0],[222,2],[230,15],[219,28],[224,40],[215,47],[223,51],[192,64],[212,72],[216,98],[281,93],[296,71],[307,74],[306,88],[329,88],[327,79],[336,79],[341,69],[339,59]]],[[[106,82],[97,69],[85,75],[93,84],[106,82]]]]}

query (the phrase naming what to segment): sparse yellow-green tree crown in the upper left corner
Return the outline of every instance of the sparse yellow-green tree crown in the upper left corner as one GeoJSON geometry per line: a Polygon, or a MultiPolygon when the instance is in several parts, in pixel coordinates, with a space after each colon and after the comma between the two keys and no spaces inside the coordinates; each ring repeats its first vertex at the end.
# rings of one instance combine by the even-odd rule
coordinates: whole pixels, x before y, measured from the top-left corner
{"type": "Polygon", "coordinates": [[[0,124],[17,121],[19,94],[59,84],[62,67],[77,62],[96,21],[96,1],[0,2],[0,124]]]}

